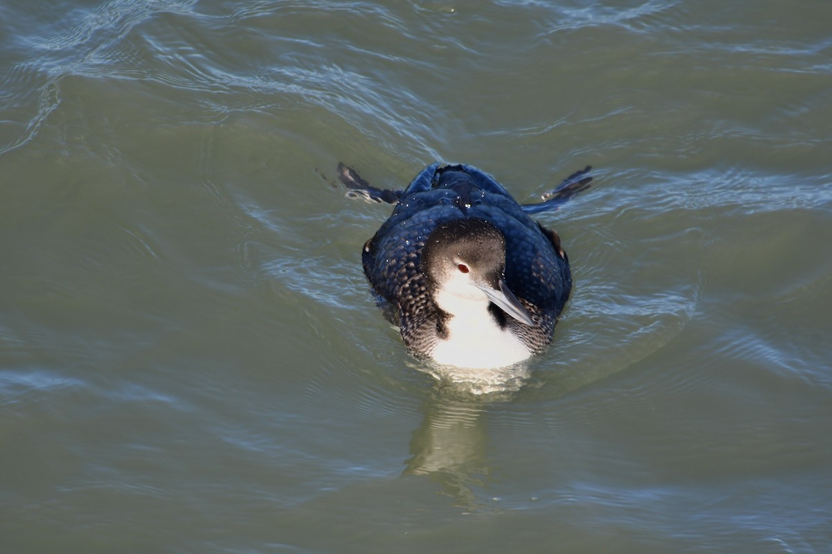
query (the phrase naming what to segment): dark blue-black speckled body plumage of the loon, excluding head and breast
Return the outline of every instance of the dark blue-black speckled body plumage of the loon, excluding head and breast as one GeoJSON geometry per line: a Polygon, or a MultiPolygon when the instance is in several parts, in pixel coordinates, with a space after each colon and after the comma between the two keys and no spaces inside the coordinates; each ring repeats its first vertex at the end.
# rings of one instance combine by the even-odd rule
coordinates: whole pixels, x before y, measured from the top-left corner
{"type": "Polygon", "coordinates": [[[518,336],[530,353],[540,353],[552,341],[555,321],[572,290],[569,262],[557,233],[529,218],[479,169],[432,164],[418,174],[390,218],[364,244],[364,273],[405,344],[414,354],[429,357],[442,339],[447,314],[433,303],[421,265],[422,249],[439,224],[472,217],[493,223],[503,233],[505,282],[534,325],[508,317],[494,305],[489,315],[518,336]]]}

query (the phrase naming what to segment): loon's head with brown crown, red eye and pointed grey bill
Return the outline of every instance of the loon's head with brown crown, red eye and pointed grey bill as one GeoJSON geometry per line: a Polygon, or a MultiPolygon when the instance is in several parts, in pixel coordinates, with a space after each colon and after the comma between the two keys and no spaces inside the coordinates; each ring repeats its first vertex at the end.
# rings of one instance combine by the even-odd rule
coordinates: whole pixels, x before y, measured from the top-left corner
{"type": "Polygon", "coordinates": [[[532,316],[508,289],[506,238],[481,218],[439,224],[422,250],[422,272],[436,306],[448,316],[488,317],[493,303],[508,316],[533,326],[532,316]]]}

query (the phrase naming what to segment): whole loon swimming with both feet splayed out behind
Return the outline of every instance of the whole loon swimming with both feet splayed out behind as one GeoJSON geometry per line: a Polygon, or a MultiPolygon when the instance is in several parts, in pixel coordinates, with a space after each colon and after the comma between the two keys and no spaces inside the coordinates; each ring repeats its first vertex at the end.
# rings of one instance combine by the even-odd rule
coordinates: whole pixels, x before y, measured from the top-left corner
{"type": "Polygon", "coordinates": [[[521,206],[470,165],[428,165],[404,191],[339,164],[348,195],[396,204],[364,243],[364,273],[409,350],[442,365],[498,368],[539,354],[572,290],[557,233],[528,216],[589,186],[587,166],[521,206]]]}

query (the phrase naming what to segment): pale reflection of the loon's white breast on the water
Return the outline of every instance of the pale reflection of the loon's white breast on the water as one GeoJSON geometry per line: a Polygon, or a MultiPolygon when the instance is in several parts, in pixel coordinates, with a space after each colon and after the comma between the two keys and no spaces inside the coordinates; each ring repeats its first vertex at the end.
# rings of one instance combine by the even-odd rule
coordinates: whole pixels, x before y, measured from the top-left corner
{"type": "Polygon", "coordinates": [[[429,475],[459,506],[483,507],[473,493],[485,486],[488,430],[483,420],[490,404],[510,400],[527,380],[526,366],[469,373],[433,367],[438,383],[425,398],[424,419],[410,441],[405,475],[429,475]]]}

